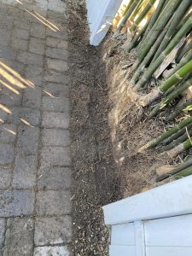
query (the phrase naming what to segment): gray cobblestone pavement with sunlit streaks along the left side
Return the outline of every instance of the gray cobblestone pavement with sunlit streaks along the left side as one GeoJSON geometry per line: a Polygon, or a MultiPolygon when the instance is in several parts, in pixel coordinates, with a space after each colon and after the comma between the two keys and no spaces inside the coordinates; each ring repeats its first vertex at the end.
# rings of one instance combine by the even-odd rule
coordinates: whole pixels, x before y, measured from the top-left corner
{"type": "Polygon", "coordinates": [[[3,256],[71,255],[66,9],[0,0],[3,256]]]}

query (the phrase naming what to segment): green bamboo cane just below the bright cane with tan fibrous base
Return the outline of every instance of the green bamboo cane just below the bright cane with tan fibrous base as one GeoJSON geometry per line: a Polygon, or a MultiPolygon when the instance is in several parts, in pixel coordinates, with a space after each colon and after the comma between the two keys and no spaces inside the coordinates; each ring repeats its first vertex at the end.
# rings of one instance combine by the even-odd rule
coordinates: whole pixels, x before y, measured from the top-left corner
{"type": "Polygon", "coordinates": [[[149,113],[149,118],[153,118],[161,109],[165,108],[166,105],[172,100],[174,100],[177,96],[179,96],[184,90],[188,89],[192,85],[192,79],[189,79],[182,86],[178,86],[177,90],[174,90],[170,95],[166,96],[152,111],[149,113]]]}

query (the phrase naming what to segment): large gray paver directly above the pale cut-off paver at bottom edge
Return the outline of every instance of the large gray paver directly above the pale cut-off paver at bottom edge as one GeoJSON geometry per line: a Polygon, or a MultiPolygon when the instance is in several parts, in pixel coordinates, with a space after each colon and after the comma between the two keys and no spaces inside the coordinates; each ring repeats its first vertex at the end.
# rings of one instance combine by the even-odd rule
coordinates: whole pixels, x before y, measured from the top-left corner
{"type": "Polygon", "coordinates": [[[72,220],[69,216],[37,218],[35,245],[56,245],[72,241],[72,220]]]}

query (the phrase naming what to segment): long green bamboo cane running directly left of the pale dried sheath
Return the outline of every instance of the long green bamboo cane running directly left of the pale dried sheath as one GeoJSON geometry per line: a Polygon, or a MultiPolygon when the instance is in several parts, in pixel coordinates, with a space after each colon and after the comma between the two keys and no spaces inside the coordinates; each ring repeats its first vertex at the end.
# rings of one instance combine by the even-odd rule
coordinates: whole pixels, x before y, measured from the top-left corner
{"type": "Polygon", "coordinates": [[[167,55],[169,55],[172,49],[178,44],[178,42],[185,36],[187,32],[192,27],[192,16],[190,16],[189,20],[184,24],[184,26],[177,32],[176,36],[172,38],[172,41],[166,46],[166,49],[160,54],[160,56],[151,64],[146,72],[143,73],[143,79],[137,84],[137,88],[142,88],[143,85],[152,77],[154,72],[160,67],[160,64],[164,61],[167,55]]]}

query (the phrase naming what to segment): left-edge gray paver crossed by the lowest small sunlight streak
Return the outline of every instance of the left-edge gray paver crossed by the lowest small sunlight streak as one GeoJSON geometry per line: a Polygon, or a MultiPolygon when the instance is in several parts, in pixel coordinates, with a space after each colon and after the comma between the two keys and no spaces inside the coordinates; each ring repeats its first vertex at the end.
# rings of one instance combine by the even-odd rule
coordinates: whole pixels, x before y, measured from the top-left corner
{"type": "Polygon", "coordinates": [[[0,125],[0,143],[15,143],[15,139],[15,125],[0,125]]]}

